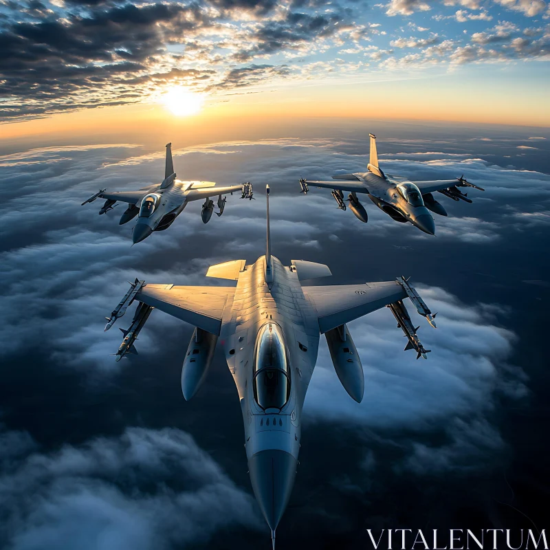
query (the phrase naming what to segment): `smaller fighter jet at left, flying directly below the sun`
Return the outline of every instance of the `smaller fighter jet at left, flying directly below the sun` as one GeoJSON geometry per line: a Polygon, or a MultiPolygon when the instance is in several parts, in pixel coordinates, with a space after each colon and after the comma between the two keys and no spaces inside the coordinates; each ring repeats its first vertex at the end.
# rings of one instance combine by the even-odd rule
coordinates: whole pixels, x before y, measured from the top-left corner
{"type": "Polygon", "coordinates": [[[124,210],[120,225],[128,223],[137,216],[137,223],[132,231],[133,243],[139,243],[146,239],[153,231],[164,231],[172,225],[173,221],[184,211],[191,201],[205,199],[201,218],[208,223],[214,212],[212,196],[218,195],[216,212],[217,216],[223,214],[225,208],[225,193],[233,194],[241,191],[241,199],[252,199],[252,185],[250,183],[215,187],[214,181],[181,181],[176,179],[172,162],[172,144],[166,144],[166,167],[164,169],[164,181],[161,184],[153,184],[142,187],[136,191],[106,192],[100,189],[95,195],[82,203],[82,206],[94,202],[98,198],[107,199],[99,211],[100,215],[113,210],[117,201],[128,203],[124,210]]]}

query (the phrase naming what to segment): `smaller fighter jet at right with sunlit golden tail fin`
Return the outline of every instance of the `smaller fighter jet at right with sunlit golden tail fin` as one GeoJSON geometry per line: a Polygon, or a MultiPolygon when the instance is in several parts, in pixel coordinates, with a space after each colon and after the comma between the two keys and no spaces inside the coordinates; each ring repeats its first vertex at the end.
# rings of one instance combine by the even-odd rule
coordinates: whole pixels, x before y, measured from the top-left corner
{"type": "Polygon", "coordinates": [[[365,173],[347,174],[345,170],[338,170],[333,175],[337,181],[311,181],[300,179],[302,192],[307,193],[309,186],[327,187],[332,189],[332,196],[338,203],[338,208],[346,210],[344,191],[349,192],[349,209],[358,219],[367,222],[366,210],[358,199],[358,193],[366,194],[375,205],[388,214],[395,221],[406,223],[410,221],[419,230],[430,235],[435,234],[435,223],[431,210],[440,216],[446,216],[447,211],[443,205],[437,202],[432,195],[437,191],[450,197],[454,201],[472,202],[467,193],[461,192],[459,187],[473,187],[484,191],[483,188],[471,184],[461,175],[456,179],[434,179],[430,181],[410,181],[405,177],[384,174],[378,166],[376,152],[376,137],[371,137],[371,158],[366,166],[365,173]]]}

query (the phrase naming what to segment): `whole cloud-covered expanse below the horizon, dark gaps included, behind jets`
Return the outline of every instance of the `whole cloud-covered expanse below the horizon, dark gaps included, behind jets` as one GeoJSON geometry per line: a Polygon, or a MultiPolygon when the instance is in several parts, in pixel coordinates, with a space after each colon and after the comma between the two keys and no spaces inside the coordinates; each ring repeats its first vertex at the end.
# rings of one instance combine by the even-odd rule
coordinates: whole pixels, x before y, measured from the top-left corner
{"type": "MultiPolygon", "coordinates": [[[[544,161],[546,140],[509,137],[501,129],[474,137],[469,129],[461,139],[448,137],[460,129],[437,134],[415,126],[394,133],[385,126],[378,148],[386,172],[411,179],[464,173],[486,188],[472,190],[473,204],[441,197],[450,215],[438,217],[437,236],[428,237],[370,202],[364,224],[338,210],[326,190],[298,193],[299,177],[364,170],[368,131],[327,129],[331,139],[184,150],[174,144],[181,177],[250,180],[257,200],[228,197],[223,216],[208,225],[200,220],[200,203],[192,204],[169,230],[134,247],[132,223],[118,225],[123,207],[100,217],[100,204],[80,203],[98,188],[159,181],[162,151],[111,144],[0,157],[0,387],[7,426],[0,436],[0,511],[8,518],[0,545],[57,549],[63,540],[76,540],[85,549],[109,550],[269,544],[246,474],[237,395],[221,354],[187,403],[179,371],[192,327],[155,311],[137,342],[140,355],[118,363],[110,354],[120,333],[103,332],[103,317],[126,291],[126,280],[211,285],[217,281],[204,277],[208,265],[252,262],[264,254],[264,184],[272,188],[273,252],[281,261],[327,263],[334,274],[327,284],[412,275],[439,311],[434,330],[409,307],[423,344],[432,349],[427,361],[403,351],[404,338],[386,309],[350,325],[365,367],[360,405],[340,387],[322,344],[307,395],[296,489],[281,524],[289,548],[311,539],[322,544],[327,533],[346,542],[364,533],[366,518],[377,525],[380,516],[391,521],[406,514],[408,525],[421,525],[434,502],[455,520],[461,511],[452,513],[464,502],[481,502],[478,492],[509,492],[500,470],[489,472],[486,465],[507,465],[511,443],[503,410],[521,408],[536,391],[515,364],[524,355],[522,368],[533,364],[536,342],[529,338],[536,335],[529,325],[527,336],[522,330],[540,310],[548,284],[540,254],[531,248],[537,250],[547,233],[550,180],[529,164],[544,161]],[[518,259],[514,265],[510,254],[518,259]],[[475,481],[476,494],[464,480],[475,481]],[[483,492],[485,481],[490,490],[483,492]],[[438,496],[426,505],[423,498],[432,500],[438,491],[450,494],[449,502],[443,506],[438,496]]],[[[129,325],[131,314],[118,325],[129,325]]],[[[494,521],[491,507],[475,511],[487,525],[494,521]]],[[[395,528],[399,521],[384,526],[395,528]]]]}

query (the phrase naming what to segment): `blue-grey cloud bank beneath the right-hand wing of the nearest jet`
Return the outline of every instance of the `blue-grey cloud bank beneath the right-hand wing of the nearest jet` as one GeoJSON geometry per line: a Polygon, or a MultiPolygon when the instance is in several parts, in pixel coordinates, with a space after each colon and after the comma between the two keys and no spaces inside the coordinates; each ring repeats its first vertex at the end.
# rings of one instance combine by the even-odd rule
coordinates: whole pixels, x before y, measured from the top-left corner
{"type": "Polygon", "coordinates": [[[340,385],[322,338],[305,402],[306,421],[344,422],[373,430],[378,434],[373,439],[382,440],[402,430],[442,428],[442,443],[413,442],[404,459],[395,463],[395,471],[483,468],[505,445],[487,421],[498,392],[527,395],[522,373],[507,366],[516,337],[495,324],[492,305],[467,306],[443,289],[414,284],[432,311],[438,311],[438,328],[423,323],[419,331],[424,346],[432,350],[428,360],[403,351],[404,338],[388,310],[356,320],[349,329],[364,367],[363,401],[355,403],[340,385]]]}

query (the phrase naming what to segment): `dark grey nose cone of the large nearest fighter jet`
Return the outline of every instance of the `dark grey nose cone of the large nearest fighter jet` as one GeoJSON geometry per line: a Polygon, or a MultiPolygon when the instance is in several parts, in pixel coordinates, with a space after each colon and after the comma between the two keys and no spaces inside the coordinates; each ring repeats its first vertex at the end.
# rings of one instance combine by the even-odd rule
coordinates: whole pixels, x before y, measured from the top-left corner
{"type": "Polygon", "coordinates": [[[275,531],[294,487],[296,459],[281,450],[260,451],[252,455],[248,469],[256,500],[267,525],[275,531]]]}

